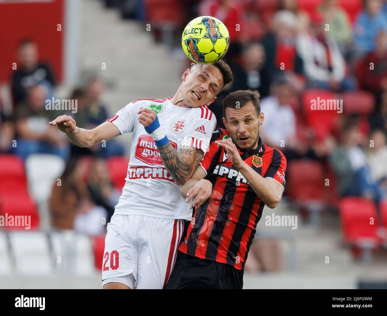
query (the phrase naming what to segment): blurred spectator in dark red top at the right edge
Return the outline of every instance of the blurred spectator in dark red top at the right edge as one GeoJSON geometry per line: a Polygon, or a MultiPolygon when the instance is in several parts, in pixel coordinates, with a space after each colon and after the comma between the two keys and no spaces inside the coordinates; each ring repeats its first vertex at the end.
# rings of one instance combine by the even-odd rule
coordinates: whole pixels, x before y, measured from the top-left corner
{"type": "Polygon", "coordinates": [[[375,39],[375,50],[364,58],[361,67],[361,86],[376,96],[387,90],[387,32],[380,31],[375,39]]]}

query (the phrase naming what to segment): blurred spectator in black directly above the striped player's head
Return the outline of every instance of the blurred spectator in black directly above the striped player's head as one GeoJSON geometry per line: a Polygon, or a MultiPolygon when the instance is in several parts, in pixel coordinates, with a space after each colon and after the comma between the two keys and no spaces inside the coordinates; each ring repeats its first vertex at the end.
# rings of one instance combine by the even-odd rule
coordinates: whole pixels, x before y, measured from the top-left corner
{"type": "Polygon", "coordinates": [[[265,66],[265,51],[261,44],[250,43],[243,48],[239,64],[232,64],[232,91],[259,90],[261,98],[269,94],[270,77],[265,66]]]}

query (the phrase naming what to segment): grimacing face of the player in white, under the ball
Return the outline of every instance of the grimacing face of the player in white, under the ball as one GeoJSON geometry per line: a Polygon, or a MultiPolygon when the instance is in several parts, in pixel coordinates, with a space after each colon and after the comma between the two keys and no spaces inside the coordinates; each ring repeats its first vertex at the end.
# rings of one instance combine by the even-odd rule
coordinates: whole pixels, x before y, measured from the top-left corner
{"type": "Polygon", "coordinates": [[[180,86],[185,104],[192,108],[210,105],[223,87],[223,77],[215,66],[185,70],[180,86]]]}

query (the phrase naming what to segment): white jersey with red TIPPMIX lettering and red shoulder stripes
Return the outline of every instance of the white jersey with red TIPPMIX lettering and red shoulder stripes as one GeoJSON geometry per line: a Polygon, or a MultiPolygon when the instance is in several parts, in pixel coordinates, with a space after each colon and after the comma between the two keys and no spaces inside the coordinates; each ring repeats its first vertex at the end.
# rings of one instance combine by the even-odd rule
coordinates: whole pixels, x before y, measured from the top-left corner
{"type": "Polygon", "coordinates": [[[128,173],[115,214],[192,218],[189,204],[180,195],[180,185],[175,183],[164,167],[154,139],[139,123],[137,112],[140,107],[156,112],[160,126],[179,153],[183,146],[199,148],[205,153],[216,126],[216,118],[206,105],[184,108],[174,105],[171,100],[135,100],[108,120],[118,127],[121,134],[132,132],[128,173]]]}

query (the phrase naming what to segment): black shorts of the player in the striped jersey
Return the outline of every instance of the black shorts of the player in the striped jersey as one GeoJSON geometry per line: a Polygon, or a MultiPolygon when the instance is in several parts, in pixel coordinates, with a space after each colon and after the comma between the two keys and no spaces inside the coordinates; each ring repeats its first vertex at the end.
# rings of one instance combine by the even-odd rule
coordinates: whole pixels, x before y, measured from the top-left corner
{"type": "Polygon", "coordinates": [[[243,270],[178,251],[164,289],[242,289],[243,270]]]}

